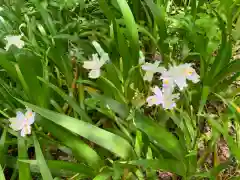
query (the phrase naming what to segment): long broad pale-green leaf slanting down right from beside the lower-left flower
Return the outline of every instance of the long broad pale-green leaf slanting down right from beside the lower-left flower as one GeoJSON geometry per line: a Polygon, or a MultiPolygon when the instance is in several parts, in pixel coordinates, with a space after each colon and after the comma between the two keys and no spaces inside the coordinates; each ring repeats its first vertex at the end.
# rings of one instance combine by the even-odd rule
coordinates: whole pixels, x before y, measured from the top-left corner
{"type": "Polygon", "coordinates": [[[52,122],[68,129],[69,131],[78,134],[98,144],[101,147],[108,149],[112,153],[115,153],[122,158],[126,159],[134,155],[131,145],[125,139],[115,134],[100,129],[84,121],[80,121],[63,114],[55,113],[53,111],[40,108],[21,100],[18,101],[25,106],[32,108],[35,112],[45,117],[46,119],[49,119],[52,122]]]}

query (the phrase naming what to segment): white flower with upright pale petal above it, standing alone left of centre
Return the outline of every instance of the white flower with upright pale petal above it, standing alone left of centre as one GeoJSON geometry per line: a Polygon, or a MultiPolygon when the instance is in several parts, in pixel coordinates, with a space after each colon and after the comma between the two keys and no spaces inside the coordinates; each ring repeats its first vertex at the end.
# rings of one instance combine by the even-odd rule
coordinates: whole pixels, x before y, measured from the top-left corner
{"type": "Polygon", "coordinates": [[[101,75],[101,67],[110,59],[108,54],[101,48],[100,44],[96,41],[93,41],[92,44],[98,52],[100,59],[98,54],[92,54],[90,61],[83,62],[83,68],[90,70],[88,74],[89,78],[96,79],[101,75]]]}

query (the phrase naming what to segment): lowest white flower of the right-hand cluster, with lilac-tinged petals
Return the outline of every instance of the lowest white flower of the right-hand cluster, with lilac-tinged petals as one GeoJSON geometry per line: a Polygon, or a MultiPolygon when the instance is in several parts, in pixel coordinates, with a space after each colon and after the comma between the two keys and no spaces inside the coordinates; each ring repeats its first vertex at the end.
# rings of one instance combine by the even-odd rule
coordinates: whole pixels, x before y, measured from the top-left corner
{"type": "Polygon", "coordinates": [[[179,98],[179,94],[172,94],[170,91],[162,91],[155,86],[152,89],[154,95],[147,98],[148,106],[162,105],[164,109],[173,109],[176,107],[175,99],[179,98]]]}

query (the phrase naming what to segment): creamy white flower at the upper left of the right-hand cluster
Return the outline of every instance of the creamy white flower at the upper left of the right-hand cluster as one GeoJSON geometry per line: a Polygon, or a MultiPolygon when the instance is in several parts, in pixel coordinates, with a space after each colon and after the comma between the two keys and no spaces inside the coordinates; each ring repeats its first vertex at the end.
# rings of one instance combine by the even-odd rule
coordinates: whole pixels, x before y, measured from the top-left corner
{"type": "Polygon", "coordinates": [[[142,69],[144,71],[146,71],[145,76],[143,77],[143,79],[145,81],[152,81],[153,75],[156,72],[164,72],[165,68],[163,67],[159,67],[159,61],[155,61],[153,64],[152,63],[145,63],[144,65],[142,65],[142,69]]]}

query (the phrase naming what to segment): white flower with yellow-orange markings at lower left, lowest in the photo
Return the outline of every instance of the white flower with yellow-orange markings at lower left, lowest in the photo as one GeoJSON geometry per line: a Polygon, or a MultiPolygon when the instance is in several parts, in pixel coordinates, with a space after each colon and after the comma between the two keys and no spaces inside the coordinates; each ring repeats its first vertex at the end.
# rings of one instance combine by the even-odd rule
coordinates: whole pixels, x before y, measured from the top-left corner
{"type": "Polygon", "coordinates": [[[14,118],[10,118],[10,127],[14,131],[21,130],[21,136],[25,137],[26,134],[31,134],[31,125],[35,121],[35,112],[32,112],[31,109],[27,109],[27,112],[23,114],[18,111],[17,116],[14,118]]]}

